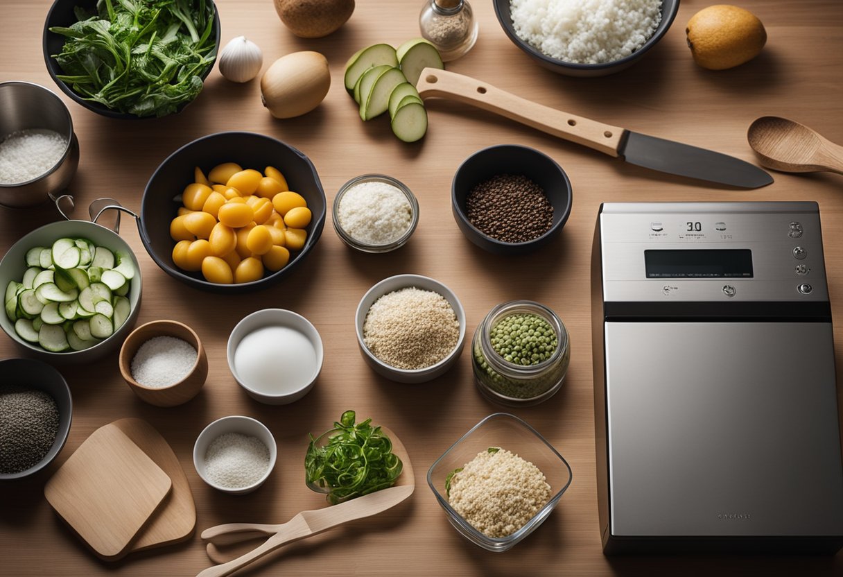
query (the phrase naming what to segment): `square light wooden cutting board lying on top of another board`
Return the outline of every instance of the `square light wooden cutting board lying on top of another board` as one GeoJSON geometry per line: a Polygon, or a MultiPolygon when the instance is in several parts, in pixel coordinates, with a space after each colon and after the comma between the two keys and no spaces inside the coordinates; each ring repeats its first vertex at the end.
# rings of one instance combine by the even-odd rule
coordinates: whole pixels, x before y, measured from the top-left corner
{"type": "Polygon", "coordinates": [[[115,560],[129,552],[171,487],[161,467],[107,424],[47,481],[44,495],[94,553],[115,560]]]}

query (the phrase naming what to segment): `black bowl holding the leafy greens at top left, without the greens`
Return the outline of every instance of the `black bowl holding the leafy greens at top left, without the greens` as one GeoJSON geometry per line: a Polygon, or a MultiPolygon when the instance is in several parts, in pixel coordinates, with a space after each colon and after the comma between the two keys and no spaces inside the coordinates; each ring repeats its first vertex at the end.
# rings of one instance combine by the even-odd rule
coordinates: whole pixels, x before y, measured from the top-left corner
{"type": "MultiPolygon", "coordinates": [[[[214,53],[216,54],[219,51],[219,41],[220,41],[220,24],[219,24],[219,11],[217,11],[217,6],[212,3],[212,0],[206,0],[208,3],[211,3],[213,7],[213,28],[211,35],[214,38],[214,44],[217,46],[214,53]]],[[[71,24],[78,22],[76,18],[76,14],[73,12],[73,9],[77,6],[83,8],[89,12],[96,11],[97,0],[56,0],[52,7],[50,8],[50,12],[47,13],[47,19],[44,23],[44,32],[42,34],[41,39],[41,46],[44,51],[44,62],[47,65],[47,72],[50,73],[53,81],[56,85],[62,89],[64,94],[67,94],[79,105],[82,105],[84,108],[87,108],[89,111],[96,112],[102,116],[108,116],[110,118],[123,118],[126,120],[142,120],[145,118],[155,118],[155,116],[135,116],[133,114],[125,114],[123,112],[113,111],[110,108],[106,107],[105,105],[99,104],[99,102],[94,102],[92,100],[84,100],[82,96],[77,94],[73,91],[73,89],[64,84],[62,80],[59,80],[58,76],[60,74],[64,74],[62,71],[62,67],[58,65],[56,59],[52,57],[54,54],[58,54],[62,51],[62,46],[64,46],[64,41],[66,40],[64,36],[57,35],[50,31],[50,29],[54,26],[64,26],[69,27],[71,24]]],[[[216,61],[216,57],[215,57],[216,61]]],[[[211,73],[211,69],[213,68],[213,63],[211,66],[208,67],[207,71],[201,75],[201,79],[204,80],[207,78],[207,75],[211,73]]],[[[184,104],[179,106],[179,109],[176,112],[183,111],[186,105],[189,105],[190,102],[185,102],[184,104]]]]}

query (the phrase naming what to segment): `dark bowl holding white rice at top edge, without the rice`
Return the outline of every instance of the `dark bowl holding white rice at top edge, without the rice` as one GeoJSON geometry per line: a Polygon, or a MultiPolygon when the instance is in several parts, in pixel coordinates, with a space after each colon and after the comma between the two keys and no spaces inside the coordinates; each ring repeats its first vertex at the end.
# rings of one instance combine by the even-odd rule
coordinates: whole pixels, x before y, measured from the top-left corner
{"type": "Polygon", "coordinates": [[[540,66],[552,70],[555,73],[566,74],[567,76],[606,76],[607,74],[614,74],[620,72],[626,67],[640,60],[648,50],[656,46],[658,40],[673,24],[676,13],[679,11],[679,0],[663,0],[662,2],[662,20],[658,23],[656,31],[652,36],[644,42],[644,45],[638,50],[632,52],[631,55],[614,62],[604,62],[602,64],[578,64],[576,62],[564,62],[547,56],[538,48],[529,45],[524,40],[518,38],[513,27],[513,19],[510,15],[511,0],[494,0],[495,13],[497,14],[497,21],[501,23],[504,32],[509,36],[509,40],[513,41],[515,46],[526,52],[529,57],[538,62],[540,66]]]}

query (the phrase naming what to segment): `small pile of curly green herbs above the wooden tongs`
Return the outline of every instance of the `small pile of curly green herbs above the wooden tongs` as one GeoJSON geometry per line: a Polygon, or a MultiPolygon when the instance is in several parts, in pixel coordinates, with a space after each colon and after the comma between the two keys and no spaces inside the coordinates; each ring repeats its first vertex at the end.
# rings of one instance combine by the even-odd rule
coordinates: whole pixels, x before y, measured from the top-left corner
{"type": "Polygon", "coordinates": [[[355,424],[354,411],[342,413],[334,428],[314,439],[304,456],[308,483],[328,488],[328,502],[341,503],[392,487],[402,463],[392,452],[392,441],[372,419],[355,424]]]}

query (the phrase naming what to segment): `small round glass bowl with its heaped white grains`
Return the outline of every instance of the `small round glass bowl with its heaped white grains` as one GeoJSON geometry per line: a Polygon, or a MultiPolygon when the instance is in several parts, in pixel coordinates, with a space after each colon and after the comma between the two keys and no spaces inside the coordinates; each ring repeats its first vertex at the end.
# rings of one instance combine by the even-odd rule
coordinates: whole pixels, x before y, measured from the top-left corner
{"type": "Polygon", "coordinates": [[[404,246],[419,222],[419,203],[401,181],[387,175],[360,175],[334,197],[336,235],[362,252],[389,252],[404,246]]]}

